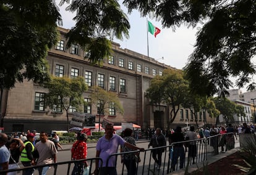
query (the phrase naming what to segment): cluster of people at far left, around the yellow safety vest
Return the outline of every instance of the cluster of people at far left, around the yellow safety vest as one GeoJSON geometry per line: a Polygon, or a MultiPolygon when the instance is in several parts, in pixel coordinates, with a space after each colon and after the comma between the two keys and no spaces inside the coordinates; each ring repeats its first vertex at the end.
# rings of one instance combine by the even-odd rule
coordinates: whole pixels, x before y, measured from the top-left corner
{"type": "MultiPolygon", "coordinates": [[[[35,130],[20,136],[14,134],[7,136],[0,133],[0,170],[19,168],[19,160],[24,167],[30,167],[22,171],[23,175],[32,175],[35,172],[33,165],[47,165],[56,163],[56,153],[58,152],[59,144],[58,137],[53,137],[53,140],[48,139],[47,132],[41,132],[39,141],[35,142],[35,130]],[[56,140],[54,140],[56,139],[56,140]]],[[[61,147],[62,149],[62,147],[61,147]]],[[[38,168],[40,175],[47,174],[49,166],[38,168]]],[[[17,172],[7,173],[15,175],[17,172]]]]}

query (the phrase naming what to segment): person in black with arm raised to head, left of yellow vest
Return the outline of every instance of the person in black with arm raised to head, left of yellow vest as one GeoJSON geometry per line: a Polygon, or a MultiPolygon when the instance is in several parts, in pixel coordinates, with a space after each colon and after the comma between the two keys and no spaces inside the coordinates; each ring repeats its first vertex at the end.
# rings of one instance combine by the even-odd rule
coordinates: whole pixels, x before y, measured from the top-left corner
{"type": "MultiPolygon", "coordinates": [[[[22,142],[21,139],[14,138],[9,142],[9,152],[10,152],[10,159],[9,159],[9,169],[20,168],[19,166],[19,159],[20,153],[25,148],[25,144],[22,142]]],[[[7,173],[7,175],[15,175],[17,171],[13,171],[7,173]]]]}

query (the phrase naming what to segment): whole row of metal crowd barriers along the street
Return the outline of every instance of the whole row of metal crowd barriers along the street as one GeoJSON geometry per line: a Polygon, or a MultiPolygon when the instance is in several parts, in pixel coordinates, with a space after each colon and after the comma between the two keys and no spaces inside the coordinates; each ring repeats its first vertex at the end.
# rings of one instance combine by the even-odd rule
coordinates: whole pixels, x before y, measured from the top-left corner
{"type": "MultiPolygon", "coordinates": [[[[230,150],[234,148],[234,134],[228,133],[228,134],[218,134],[216,136],[210,136],[203,139],[196,139],[196,140],[186,140],[184,142],[174,142],[171,145],[166,145],[164,147],[157,147],[157,148],[151,148],[145,150],[145,152],[139,152],[138,151],[132,151],[132,152],[122,152],[122,153],[114,153],[113,155],[109,156],[116,157],[116,166],[117,161],[121,161],[121,155],[125,155],[127,153],[139,153],[141,162],[137,162],[137,169],[136,174],[168,174],[173,171],[178,171],[180,168],[180,161],[181,158],[177,158],[176,165],[174,168],[172,167],[171,163],[173,161],[173,158],[171,158],[171,149],[174,149],[174,146],[176,144],[184,144],[184,150],[186,150],[185,145],[189,144],[189,142],[196,142],[197,149],[196,149],[196,155],[194,159],[194,163],[200,163],[202,161],[207,161],[209,158],[220,154],[221,152],[225,152],[226,150],[230,150]],[[152,158],[152,152],[156,150],[163,150],[162,157],[161,157],[161,166],[156,166],[155,160],[152,158]]],[[[187,151],[184,155],[184,165],[183,168],[186,168],[186,166],[192,165],[192,159],[188,156],[189,148],[187,148],[187,151]]],[[[174,152],[173,152],[174,153],[174,152]]],[[[108,161],[107,160],[107,165],[108,161]]],[[[102,162],[101,158],[88,158],[86,159],[87,162],[90,162],[90,174],[93,174],[94,167],[95,167],[95,160],[99,160],[102,162]]],[[[85,161],[85,160],[73,160],[73,161],[63,161],[58,163],[52,163],[48,165],[41,165],[41,166],[32,166],[32,167],[24,167],[24,168],[17,168],[17,169],[9,169],[6,171],[0,171],[0,174],[4,174],[7,172],[13,172],[13,171],[22,171],[23,169],[29,169],[29,168],[40,168],[44,166],[53,166],[54,167],[54,175],[58,174],[58,166],[59,165],[68,165],[67,166],[67,174],[70,173],[70,166],[79,161],[85,161]]],[[[102,165],[102,163],[100,163],[102,165]]],[[[120,169],[120,168],[119,168],[120,169]]],[[[101,173],[101,174],[104,174],[101,173]]],[[[127,170],[124,166],[124,163],[122,163],[121,171],[117,171],[117,174],[127,174],[127,170]]]]}

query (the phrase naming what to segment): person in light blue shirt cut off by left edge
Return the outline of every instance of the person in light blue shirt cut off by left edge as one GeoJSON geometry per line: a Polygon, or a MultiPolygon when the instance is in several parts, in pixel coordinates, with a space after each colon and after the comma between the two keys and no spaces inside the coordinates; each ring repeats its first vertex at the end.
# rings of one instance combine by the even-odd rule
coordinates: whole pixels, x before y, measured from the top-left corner
{"type": "Polygon", "coordinates": [[[5,133],[0,133],[0,170],[9,168],[10,153],[6,147],[8,137],[5,133]]]}

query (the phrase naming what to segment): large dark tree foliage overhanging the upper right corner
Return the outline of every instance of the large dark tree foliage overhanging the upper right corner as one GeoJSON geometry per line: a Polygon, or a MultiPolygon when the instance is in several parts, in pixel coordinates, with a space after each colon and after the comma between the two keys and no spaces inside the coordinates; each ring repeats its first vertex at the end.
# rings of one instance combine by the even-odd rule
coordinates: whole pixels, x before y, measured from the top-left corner
{"type": "Polygon", "coordinates": [[[132,12],[161,20],[164,27],[186,24],[203,26],[197,33],[195,50],[186,65],[187,78],[197,94],[224,96],[237,77],[236,86],[253,90],[256,54],[256,3],[253,0],[226,1],[137,1],[125,0],[132,12]]]}

